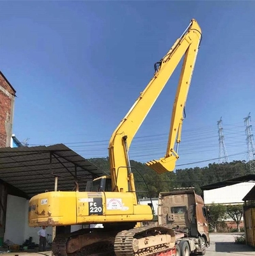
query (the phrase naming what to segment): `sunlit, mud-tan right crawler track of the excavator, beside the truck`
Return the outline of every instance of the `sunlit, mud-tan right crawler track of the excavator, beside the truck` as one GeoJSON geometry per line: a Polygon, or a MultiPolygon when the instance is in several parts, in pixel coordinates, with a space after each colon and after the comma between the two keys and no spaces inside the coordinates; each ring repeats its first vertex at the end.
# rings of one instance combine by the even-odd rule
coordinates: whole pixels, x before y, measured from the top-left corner
{"type": "Polygon", "coordinates": [[[117,234],[114,252],[116,256],[153,256],[160,252],[167,252],[167,250],[173,248],[174,243],[174,231],[171,228],[163,226],[132,228],[117,234]],[[158,240],[159,242],[160,237],[164,235],[171,236],[171,243],[150,243],[153,240],[158,240]],[[151,237],[155,239],[151,239],[151,237]],[[142,247],[140,246],[140,239],[144,241],[142,247]]]}

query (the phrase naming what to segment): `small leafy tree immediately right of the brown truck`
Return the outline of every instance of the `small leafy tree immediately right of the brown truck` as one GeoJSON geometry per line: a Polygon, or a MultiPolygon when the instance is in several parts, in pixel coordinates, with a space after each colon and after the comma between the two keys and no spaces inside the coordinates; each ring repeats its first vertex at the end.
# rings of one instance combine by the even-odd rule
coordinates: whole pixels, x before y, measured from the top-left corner
{"type": "Polygon", "coordinates": [[[213,228],[214,232],[217,232],[217,228],[226,220],[226,206],[222,204],[212,204],[208,206],[209,225],[213,228]]]}

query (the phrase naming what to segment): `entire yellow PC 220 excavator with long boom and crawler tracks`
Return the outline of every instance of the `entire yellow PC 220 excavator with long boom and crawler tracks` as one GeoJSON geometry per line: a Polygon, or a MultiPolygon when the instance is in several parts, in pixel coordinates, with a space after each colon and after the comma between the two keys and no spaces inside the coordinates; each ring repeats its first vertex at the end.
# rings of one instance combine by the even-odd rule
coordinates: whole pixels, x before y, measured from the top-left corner
{"type": "Polygon", "coordinates": [[[146,256],[165,252],[174,246],[172,228],[160,225],[135,227],[137,223],[152,220],[153,212],[149,205],[137,203],[128,150],[135,133],[184,56],[173,104],[166,156],[146,163],[157,173],[174,170],[179,158],[183,111],[200,42],[201,29],[196,20],[192,19],[173,47],[155,63],[155,74],[150,83],[111,136],[111,176],[93,180],[90,191],[51,191],[31,198],[30,227],[93,223],[104,225],[104,228],[84,228],[56,236],[52,244],[54,255],[146,256]]]}

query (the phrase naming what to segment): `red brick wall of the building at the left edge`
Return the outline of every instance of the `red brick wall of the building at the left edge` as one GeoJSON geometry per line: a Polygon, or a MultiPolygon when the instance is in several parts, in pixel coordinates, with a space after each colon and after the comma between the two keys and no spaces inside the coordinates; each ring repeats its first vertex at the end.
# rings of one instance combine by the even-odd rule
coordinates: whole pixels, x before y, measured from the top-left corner
{"type": "MultiPolygon", "coordinates": [[[[0,147],[10,147],[6,145],[6,122],[12,123],[12,102],[13,89],[0,74],[0,147]]],[[[10,136],[10,134],[9,134],[10,136]]]]}

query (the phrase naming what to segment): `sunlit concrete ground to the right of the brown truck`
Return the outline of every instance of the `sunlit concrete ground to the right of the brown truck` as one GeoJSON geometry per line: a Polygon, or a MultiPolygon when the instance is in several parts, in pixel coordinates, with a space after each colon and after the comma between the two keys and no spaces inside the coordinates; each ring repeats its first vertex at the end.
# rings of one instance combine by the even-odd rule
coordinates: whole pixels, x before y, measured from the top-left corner
{"type": "Polygon", "coordinates": [[[255,250],[245,244],[235,244],[235,237],[240,233],[210,233],[211,245],[207,248],[207,256],[254,255],[255,250]]]}

